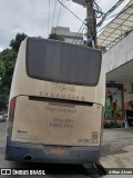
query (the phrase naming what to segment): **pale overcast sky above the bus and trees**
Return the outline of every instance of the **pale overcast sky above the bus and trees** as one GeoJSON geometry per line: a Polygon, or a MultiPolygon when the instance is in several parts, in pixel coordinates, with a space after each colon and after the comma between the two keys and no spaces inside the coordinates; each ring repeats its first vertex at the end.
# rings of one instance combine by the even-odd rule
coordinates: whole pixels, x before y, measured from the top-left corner
{"type": "MultiPolygon", "coordinates": [[[[78,32],[82,22],[66,9],[61,8],[58,1],[53,18],[55,1],[57,0],[0,0],[0,51],[9,48],[11,39],[14,39],[18,32],[24,32],[30,37],[40,36],[48,38],[51,28],[57,26],[69,27],[71,31],[78,32]]],[[[63,1],[80,19],[85,19],[85,8],[71,0],[60,1],[63,1]]],[[[106,12],[116,1],[119,0],[96,0],[103,12],[106,12]]],[[[130,0],[125,0],[113,13],[115,14],[120,11],[129,1],[130,0]]],[[[106,20],[105,23],[108,22],[109,20],[106,20]]]]}

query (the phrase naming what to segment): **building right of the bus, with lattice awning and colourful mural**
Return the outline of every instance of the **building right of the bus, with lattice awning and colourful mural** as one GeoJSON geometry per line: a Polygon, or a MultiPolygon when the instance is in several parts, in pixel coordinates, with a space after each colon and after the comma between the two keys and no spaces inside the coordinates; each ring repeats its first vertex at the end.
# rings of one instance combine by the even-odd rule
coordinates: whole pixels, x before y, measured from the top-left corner
{"type": "Polygon", "coordinates": [[[105,49],[105,118],[124,121],[126,110],[133,109],[133,0],[106,26],[98,43],[105,49]]]}

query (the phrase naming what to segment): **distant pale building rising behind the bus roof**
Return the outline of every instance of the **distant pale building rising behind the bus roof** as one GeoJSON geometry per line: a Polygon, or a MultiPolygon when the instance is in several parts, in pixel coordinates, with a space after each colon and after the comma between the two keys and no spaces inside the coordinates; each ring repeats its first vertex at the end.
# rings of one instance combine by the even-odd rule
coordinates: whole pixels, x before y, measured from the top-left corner
{"type": "Polygon", "coordinates": [[[83,43],[83,34],[71,32],[70,28],[66,28],[66,27],[52,28],[51,33],[57,33],[58,36],[62,37],[65,42],[69,42],[69,43],[76,43],[76,44],[83,43]]]}

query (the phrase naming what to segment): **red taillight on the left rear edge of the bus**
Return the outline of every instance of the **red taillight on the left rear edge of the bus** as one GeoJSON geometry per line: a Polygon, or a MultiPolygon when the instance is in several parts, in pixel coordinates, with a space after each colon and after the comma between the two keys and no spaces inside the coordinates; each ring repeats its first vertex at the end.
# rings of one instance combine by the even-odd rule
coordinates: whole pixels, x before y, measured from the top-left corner
{"type": "Polygon", "coordinates": [[[16,100],[17,98],[12,98],[10,101],[10,107],[9,107],[9,121],[13,122],[14,118],[14,109],[16,109],[16,100]]]}

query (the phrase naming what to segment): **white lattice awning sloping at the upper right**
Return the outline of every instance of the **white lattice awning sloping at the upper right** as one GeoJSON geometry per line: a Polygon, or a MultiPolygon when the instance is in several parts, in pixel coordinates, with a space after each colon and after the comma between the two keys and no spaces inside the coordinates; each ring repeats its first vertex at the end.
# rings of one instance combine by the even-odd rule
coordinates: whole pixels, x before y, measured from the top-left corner
{"type": "Polygon", "coordinates": [[[133,31],[133,0],[106,26],[98,37],[98,44],[110,49],[131,31],[133,31]]]}

